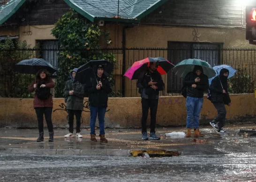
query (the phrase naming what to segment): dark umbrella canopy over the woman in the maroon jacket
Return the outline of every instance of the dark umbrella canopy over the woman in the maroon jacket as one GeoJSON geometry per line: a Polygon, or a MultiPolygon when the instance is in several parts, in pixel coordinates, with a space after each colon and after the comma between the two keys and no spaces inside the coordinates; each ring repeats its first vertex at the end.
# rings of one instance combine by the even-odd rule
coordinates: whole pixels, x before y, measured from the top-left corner
{"type": "Polygon", "coordinates": [[[53,65],[44,59],[26,59],[15,65],[15,71],[23,74],[36,74],[41,69],[45,69],[51,74],[56,72],[53,65]]]}

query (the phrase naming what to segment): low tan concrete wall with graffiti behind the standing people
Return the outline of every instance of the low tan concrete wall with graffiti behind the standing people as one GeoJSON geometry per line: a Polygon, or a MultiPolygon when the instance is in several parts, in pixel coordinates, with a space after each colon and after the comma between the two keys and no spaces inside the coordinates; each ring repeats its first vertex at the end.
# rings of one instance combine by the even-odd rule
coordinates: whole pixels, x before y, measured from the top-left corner
{"type": "MultiPolygon", "coordinates": [[[[231,95],[232,106],[226,107],[227,119],[254,118],[256,98],[254,94],[231,95]]],[[[67,111],[64,99],[53,100],[53,125],[66,127],[67,111]]],[[[186,100],[179,97],[161,97],[158,103],[157,124],[160,126],[186,125],[186,100]]],[[[105,116],[106,127],[140,127],[141,98],[109,98],[108,112],[105,116]]],[[[201,123],[213,119],[217,111],[207,98],[204,98],[201,123]]],[[[90,110],[87,99],[84,100],[82,127],[90,127],[90,110]]],[[[149,121],[148,121],[149,123],[149,121]]],[[[0,98],[0,126],[37,127],[37,118],[33,108],[33,99],[0,98]]]]}

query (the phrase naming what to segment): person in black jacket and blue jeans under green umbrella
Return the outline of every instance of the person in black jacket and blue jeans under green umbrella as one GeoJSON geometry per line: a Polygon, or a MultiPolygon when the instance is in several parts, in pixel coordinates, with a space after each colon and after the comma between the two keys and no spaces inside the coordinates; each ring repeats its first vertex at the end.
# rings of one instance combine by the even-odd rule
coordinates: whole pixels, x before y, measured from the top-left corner
{"type": "Polygon", "coordinates": [[[187,134],[191,137],[191,129],[194,128],[194,136],[203,137],[199,131],[199,114],[203,107],[203,92],[209,87],[208,77],[203,74],[203,68],[196,65],[193,72],[189,72],[184,79],[187,87],[187,134]]]}

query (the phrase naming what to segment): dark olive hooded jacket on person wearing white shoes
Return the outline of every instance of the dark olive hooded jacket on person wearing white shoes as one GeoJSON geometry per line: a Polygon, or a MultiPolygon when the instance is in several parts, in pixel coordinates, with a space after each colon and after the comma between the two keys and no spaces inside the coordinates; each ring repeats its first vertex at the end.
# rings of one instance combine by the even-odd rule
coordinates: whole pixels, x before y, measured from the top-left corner
{"type": "Polygon", "coordinates": [[[65,102],[67,103],[67,110],[83,110],[84,98],[84,84],[80,84],[72,77],[72,72],[76,72],[75,68],[70,72],[70,80],[66,82],[65,86],[65,102]],[[74,95],[69,95],[69,91],[74,91],[74,95]]]}

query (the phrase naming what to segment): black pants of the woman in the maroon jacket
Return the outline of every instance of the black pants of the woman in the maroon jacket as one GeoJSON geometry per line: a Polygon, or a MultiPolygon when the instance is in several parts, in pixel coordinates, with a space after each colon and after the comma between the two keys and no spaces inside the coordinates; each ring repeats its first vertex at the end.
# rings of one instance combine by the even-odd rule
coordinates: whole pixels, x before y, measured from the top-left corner
{"type": "Polygon", "coordinates": [[[48,131],[53,132],[52,122],[52,107],[36,107],[35,108],[38,117],[38,131],[39,133],[44,132],[44,114],[47,123],[48,131]]]}

